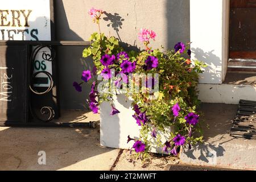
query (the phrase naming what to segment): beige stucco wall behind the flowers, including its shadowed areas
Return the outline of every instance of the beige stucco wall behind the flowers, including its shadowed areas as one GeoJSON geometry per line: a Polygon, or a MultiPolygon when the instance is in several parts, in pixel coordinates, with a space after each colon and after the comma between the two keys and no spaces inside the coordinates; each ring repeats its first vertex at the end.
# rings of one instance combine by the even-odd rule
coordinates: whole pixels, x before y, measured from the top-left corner
{"type": "MultiPolygon", "coordinates": [[[[109,13],[109,20],[102,20],[102,32],[119,37],[122,42],[130,44],[131,48],[143,48],[137,38],[141,28],[150,28],[156,32],[157,38],[152,43],[153,47],[162,45],[165,48],[173,48],[176,42],[189,42],[190,39],[189,0],[55,2],[58,40],[88,40],[90,34],[97,31],[96,24],[92,23],[87,13],[91,7],[109,13]]],[[[59,48],[60,104],[63,109],[85,109],[90,86],[82,85],[82,93],[75,92],[72,87],[74,80],[80,80],[84,69],[92,68],[92,60],[82,58],[82,49],[59,48]]]]}

